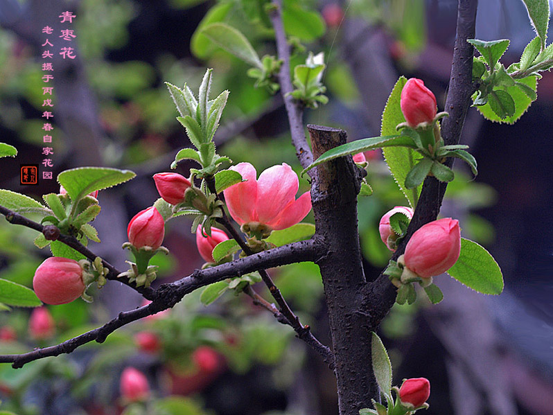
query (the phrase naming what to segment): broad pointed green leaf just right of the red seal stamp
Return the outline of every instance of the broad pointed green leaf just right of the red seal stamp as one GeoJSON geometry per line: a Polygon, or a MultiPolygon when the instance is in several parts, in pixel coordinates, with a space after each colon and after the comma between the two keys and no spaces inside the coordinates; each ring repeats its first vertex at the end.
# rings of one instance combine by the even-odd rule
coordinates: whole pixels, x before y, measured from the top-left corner
{"type": "Polygon", "coordinates": [[[65,188],[73,202],[89,193],[128,182],[136,176],[130,170],[107,167],[78,167],[58,175],[58,182],[65,188]]]}

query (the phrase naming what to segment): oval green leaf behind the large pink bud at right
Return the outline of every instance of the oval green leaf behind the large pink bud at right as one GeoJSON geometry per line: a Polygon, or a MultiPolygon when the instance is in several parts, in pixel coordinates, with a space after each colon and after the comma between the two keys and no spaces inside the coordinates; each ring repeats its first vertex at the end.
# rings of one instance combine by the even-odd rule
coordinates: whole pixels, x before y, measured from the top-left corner
{"type": "Polygon", "coordinates": [[[500,294],[503,291],[503,276],[498,263],[486,249],[472,240],[461,238],[461,254],[448,274],[482,294],[500,294]]]}

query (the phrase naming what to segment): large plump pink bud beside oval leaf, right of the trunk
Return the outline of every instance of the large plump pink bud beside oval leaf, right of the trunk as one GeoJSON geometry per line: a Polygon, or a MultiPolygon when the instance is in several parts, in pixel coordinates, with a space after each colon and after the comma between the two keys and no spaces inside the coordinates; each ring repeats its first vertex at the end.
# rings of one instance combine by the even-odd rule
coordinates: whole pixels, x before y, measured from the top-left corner
{"type": "Polygon", "coordinates": [[[446,272],[461,252],[459,221],[444,218],[420,227],[405,247],[405,267],[422,278],[446,272]]]}

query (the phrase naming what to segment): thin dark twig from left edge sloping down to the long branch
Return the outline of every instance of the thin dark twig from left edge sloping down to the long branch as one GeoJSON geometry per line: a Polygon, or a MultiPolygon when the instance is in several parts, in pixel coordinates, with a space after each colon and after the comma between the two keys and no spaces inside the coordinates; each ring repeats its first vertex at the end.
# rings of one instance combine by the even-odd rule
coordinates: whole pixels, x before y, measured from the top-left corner
{"type": "MultiPolygon", "coordinates": [[[[10,211],[10,209],[7,209],[4,206],[0,206],[0,213],[6,216],[6,220],[11,224],[19,224],[21,226],[34,229],[35,231],[39,231],[40,233],[43,233],[44,231],[44,226],[42,224],[34,222],[33,220],[30,220],[24,215],[20,215],[17,212],[10,211]]],[[[94,259],[98,256],[94,254],[94,252],[92,252],[90,249],[85,247],[85,245],[82,245],[82,243],[80,243],[74,236],[64,235],[63,233],[61,233],[60,236],[58,236],[57,240],[63,242],[68,247],[75,249],[80,254],[86,256],[90,261],[94,261],[94,259]]],[[[102,259],[102,263],[104,267],[109,270],[109,274],[107,274],[106,276],[107,279],[119,281],[120,283],[128,285],[130,288],[136,290],[148,300],[151,300],[153,298],[152,288],[137,287],[136,285],[129,283],[128,279],[126,278],[117,278],[117,276],[121,274],[121,271],[117,270],[116,267],[105,261],[105,259],[102,259]]]]}

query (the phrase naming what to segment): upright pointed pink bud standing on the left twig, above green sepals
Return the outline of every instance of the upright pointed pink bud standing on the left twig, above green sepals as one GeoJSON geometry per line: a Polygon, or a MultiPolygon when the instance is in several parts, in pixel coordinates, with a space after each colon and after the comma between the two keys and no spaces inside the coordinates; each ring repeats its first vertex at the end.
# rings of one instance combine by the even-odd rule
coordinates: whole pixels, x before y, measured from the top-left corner
{"type": "Polygon", "coordinates": [[[127,234],[129,242],[134,247],[157,249],[161,246],[165,236],[164,218],[154,206],[144,209],[130,220],[127,234]]]}

